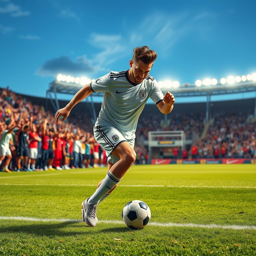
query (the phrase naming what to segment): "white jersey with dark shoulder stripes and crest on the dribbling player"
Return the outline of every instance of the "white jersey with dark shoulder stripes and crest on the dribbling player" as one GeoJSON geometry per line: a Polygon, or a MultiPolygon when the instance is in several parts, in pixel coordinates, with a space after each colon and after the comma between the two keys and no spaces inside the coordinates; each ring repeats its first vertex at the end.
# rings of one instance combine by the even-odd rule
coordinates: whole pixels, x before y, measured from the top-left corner
{"type": "Polygon", "coordinates": [[[138,118],[149,98],[155,104],[163,101],[164,95],[154,77],[147,76],[140,84],[128,77],[128,70],[110,71],[90,84],[93,92],[104,92],[97,124],[112,125],[126,139],[135,138],[138,118]]]}

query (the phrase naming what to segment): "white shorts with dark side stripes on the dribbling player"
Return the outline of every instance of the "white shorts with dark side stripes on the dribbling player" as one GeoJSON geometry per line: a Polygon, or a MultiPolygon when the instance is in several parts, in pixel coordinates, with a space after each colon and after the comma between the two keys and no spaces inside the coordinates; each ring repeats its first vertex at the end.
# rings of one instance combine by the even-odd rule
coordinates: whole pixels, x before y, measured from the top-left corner
{"type": "Polygon", "coordinates": [[[107,126],[105,124],[98,124],[96,122],[93,127],[95,140],[104,148],[106,151],[106,156],[108,161],[112,164],[115,164],[120,160],[120,158],[111,154],[111,152],[118,146],[120,143],[127,141],[132,148],[134,148],[135,138],[131,140],[126,140],[123,134],[112,126],[107,126]]]}

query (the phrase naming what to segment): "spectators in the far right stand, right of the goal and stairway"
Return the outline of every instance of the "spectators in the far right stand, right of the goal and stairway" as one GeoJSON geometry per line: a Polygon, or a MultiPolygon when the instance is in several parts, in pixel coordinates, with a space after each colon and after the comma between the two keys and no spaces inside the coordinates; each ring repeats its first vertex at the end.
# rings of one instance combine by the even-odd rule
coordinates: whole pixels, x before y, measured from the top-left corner
{"type": "Polygon", "coordinates": [[[250,122],[250,110],[214,114],[206,137],[191,147],[193,153],[199,158],[253,158],[256,124],[250,122]]]}

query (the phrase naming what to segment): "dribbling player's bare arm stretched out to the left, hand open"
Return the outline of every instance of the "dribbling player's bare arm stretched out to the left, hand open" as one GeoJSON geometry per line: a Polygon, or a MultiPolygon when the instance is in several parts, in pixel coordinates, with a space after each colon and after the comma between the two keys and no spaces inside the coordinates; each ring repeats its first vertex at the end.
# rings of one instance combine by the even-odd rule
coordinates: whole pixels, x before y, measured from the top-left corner
{"type": "Polygon", "coordinates": [[[61,122],[63,122],[68,116],[71,111],[71,109],[80,101],[84,100],[86,97],[88,97],[92,93],[92,90],[90,88],[90,84],[87,84],[84,86],[81,90],[79,90],[76,95],[73,97],[73,99],[67,104],[66,107],[59,109],[55,114],[55,123],[58,123],[58,120],[60,116],[63,116],[61,119],[61,122]]]}

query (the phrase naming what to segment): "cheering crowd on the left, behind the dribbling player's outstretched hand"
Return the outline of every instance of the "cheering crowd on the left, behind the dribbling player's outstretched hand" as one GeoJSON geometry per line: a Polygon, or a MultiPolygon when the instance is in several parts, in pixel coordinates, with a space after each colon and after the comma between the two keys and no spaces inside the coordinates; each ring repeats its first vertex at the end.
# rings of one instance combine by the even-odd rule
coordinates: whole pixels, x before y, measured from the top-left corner
{"type": "Polygon", "coordinates": [[[0,89],[0,169],[32,171],[106,165],[106,154],[95,141],[90,119],[71,115],[58,124],[43,106],[13,91],[0,89]]]}

